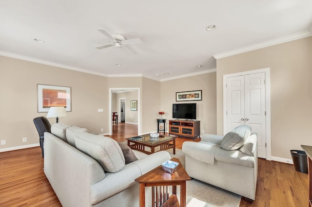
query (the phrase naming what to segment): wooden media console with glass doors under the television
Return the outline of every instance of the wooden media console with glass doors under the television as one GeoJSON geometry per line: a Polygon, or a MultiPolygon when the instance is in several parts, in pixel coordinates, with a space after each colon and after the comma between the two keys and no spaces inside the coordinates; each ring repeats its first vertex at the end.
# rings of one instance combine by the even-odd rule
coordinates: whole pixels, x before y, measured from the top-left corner
{"type": "Polygon", "coordinates": [[[169,120],[169,136],[197,138],[200,135],[200,121],[169,120]]]}

